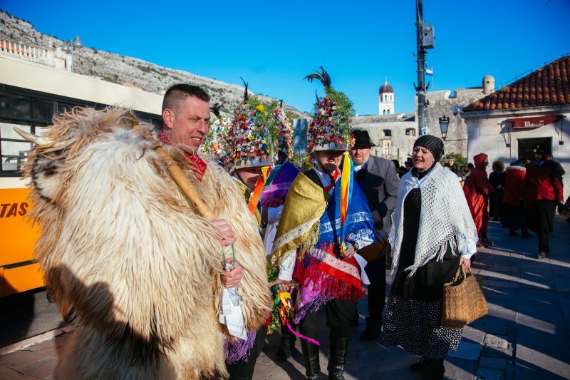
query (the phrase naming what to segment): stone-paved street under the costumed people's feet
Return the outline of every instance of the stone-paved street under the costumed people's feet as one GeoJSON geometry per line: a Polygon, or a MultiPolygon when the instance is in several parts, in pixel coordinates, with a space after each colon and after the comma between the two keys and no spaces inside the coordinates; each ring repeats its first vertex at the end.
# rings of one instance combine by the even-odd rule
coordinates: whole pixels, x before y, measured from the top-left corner
{"type": "MultiPolygon", "coordinates": [[[[493,247],[476,255],[489,314],[464,329],[460,347],[445,361],[447,379],[570,379],[570,225],[556,217],[551,256],[536,260],[537,239],[507,236],[490,223],[493,247]]],[[[359,302],[360,325],[348,346],[346,379],[420,379],[408,367],[417,358],[403,349],[359,342],[366,302],[359,302]]],[[[44,342],[0,349],[0,379],[53,379],[71,329],[46,334],[44,342]],[[53,335],[59,334],[56,337],[53,335]],[[24,348],[21,348],[24,346],[24,348]]],[[[326,373],[328,332],[321,327],[321,371],[326,373]]],[[[38,340],[38,339],[36,339],[38,340]]],[[[274,360],[279,334],[267,339],[254,379],[305,379],[301,346],[289,361],[274,360]]]]}

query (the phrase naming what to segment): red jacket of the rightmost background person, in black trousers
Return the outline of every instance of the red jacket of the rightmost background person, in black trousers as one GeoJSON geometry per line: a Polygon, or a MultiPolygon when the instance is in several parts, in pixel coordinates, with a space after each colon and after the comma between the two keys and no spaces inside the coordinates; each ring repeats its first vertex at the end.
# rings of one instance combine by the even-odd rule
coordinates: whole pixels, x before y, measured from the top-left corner
{"type": "Polygon", "coordinates": [[[524,178],[524,200],[527,205],[543,199],[564,202],[562,181],[551,160],[544,161],[542,165],[530,163],[524,178]]]}

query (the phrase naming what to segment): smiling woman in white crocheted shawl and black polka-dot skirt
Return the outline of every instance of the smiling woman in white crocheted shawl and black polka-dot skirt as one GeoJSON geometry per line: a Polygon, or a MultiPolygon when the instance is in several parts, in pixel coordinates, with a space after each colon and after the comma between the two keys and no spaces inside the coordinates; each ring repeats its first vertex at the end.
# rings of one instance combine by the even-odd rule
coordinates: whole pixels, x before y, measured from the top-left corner
{"type": "Polygon", "coordinates": [[[423,135],[414,143],[414,167],[398,188],[390,244],[396,271],[386,302],[384,339],[420,356],[412,371],[442,379],[443,360],[457,349],[462,329],[441,327],[442,288],[460,263],[470,267],[477,230],[457,176],[437,163],[443,142],[423,135]]]}

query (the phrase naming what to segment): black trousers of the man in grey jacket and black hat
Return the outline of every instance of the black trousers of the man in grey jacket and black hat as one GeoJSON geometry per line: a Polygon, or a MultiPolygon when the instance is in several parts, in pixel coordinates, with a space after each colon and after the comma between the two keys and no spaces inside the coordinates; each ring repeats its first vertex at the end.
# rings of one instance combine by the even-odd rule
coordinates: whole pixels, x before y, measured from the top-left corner
{"type": "Polygon", "coordinates": [[[382,311],[386,297],[386,260],[385,257],[369,262],[364,267],[370,284],[368,285],[368,324],[371,327],[382,327],[382,311]]]}

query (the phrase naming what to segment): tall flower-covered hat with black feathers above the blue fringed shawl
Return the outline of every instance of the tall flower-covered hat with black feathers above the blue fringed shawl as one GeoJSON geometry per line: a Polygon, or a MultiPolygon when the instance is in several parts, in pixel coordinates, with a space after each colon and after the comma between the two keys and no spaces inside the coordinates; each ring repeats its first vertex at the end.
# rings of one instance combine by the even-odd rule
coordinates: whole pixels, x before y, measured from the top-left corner
{"type": "Polygon", "coordinates": [[[313,120],[307,128],[307,150],[346,150],[351,145],[351,121],[354,116],[352,101],[342,91],[331,86],[331,77],[321,66],[321,73],[315,71],[304,79],[323,83],[325,96],[316,98],[313,120]]]}

